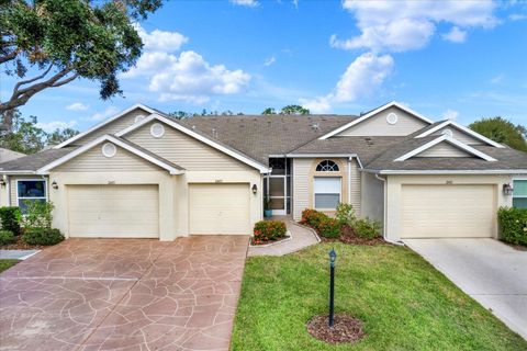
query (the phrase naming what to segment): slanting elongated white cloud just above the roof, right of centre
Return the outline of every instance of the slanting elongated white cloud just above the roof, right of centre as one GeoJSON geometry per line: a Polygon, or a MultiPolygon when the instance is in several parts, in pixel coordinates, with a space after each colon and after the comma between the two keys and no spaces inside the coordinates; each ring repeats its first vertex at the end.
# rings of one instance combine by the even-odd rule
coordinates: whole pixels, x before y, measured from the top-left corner
{"type": "Polygon", "coordinates": [[[352,102],[370,95],[390,76],[393,65],[390,55],[362,54],[348,66],[330,93],[312,100],[301,99],[300,102],[315,113],[323,113],[328,112],[333,103],[352,102]]]}

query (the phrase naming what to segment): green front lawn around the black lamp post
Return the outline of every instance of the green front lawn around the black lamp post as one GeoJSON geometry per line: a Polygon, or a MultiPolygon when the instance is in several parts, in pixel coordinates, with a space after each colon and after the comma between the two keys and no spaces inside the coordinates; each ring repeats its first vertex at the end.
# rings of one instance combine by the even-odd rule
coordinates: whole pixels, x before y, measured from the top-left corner
{"type": "Polygon", "coordinates": [[[527,350],[527,342],[404,247],[322,244],[247,260],[232,350],[527,350]],[[329,346],[305,329],[327,313],[332,247],[336,312],[365,322],[367,336],[354,344],[329,346]]]}

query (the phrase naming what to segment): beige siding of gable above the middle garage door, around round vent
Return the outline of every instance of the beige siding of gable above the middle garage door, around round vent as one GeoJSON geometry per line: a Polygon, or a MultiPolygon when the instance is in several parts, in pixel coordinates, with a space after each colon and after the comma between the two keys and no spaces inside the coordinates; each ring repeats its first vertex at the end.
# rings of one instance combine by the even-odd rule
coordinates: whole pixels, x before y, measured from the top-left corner
{"type": "Polygon", "coordinates": [[[249,168],[235,158],[165,124],[165,135],[155,138],[150,135],[152,124],[148,123],[125,137],[191,171],[239,171],[249,168]]]}

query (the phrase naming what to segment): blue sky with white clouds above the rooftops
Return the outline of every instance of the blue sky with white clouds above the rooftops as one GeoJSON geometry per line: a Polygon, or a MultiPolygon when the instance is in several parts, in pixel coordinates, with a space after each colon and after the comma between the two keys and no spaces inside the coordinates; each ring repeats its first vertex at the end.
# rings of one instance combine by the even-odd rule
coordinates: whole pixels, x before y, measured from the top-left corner
{"type": "MultiPolygon", "coordinates": [[[[468,124],[527,124],[527,1],[169,1],[138,24],[124,98],[75,81],[21,111],[86,129],[142,102],[165,112],[260,113],[303,104],[357,114],[396,100],[468,124]]],[[[13,81],[2,76],[1,98],[13,81]]]]}

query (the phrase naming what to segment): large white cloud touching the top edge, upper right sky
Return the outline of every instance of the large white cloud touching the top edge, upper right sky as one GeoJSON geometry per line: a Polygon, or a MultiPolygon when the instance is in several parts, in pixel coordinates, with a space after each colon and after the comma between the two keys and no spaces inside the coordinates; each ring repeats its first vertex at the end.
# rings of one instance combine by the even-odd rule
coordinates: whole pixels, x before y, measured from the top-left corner
{"type": "MultiPolygon", "coordinates": [[[[436,32],[439,22],[460,29],[493,27],[495,4],[491,0],[472,1],[352,1],[343,7],[357,20],[360,35],[330,38],[334,47],[368,48],[380,52],[405,52],[424,47],[436,32]]],[[[458,34],[459,38],[460,35],[458,34]]]]}

